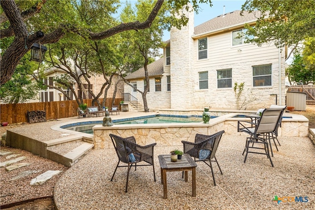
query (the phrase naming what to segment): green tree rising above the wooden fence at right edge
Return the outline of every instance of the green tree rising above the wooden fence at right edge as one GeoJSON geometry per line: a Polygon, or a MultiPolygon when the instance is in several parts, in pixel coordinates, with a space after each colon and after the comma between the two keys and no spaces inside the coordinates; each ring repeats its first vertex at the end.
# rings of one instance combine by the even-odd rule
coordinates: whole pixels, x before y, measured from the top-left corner
{"type": "Polygon", "coordinates": [[[315,71],[306,67],[303,57],[295,54],[292,64],[287,68],[289,81],[302,82],[307,85],[315,81],[315,71]]]}

